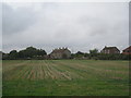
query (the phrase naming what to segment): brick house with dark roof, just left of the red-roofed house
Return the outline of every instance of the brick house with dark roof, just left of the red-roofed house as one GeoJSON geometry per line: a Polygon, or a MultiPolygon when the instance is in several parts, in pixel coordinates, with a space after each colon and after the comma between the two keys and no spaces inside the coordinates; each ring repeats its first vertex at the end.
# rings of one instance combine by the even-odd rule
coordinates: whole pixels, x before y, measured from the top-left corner
{"type": "Polygon", "coordinates": [[[117,47],[106,47],[100,51],[102,53],[120,53],[120,50],[117,47]]]}

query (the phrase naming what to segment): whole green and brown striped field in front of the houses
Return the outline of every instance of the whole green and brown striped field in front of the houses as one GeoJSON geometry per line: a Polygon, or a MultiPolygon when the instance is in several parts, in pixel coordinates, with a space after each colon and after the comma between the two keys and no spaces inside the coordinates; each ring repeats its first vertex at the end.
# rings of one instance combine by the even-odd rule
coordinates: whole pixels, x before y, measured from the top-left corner
{"type": "Polygon", "coordinates": [[[128,96],[129,62],[3,60],[3,96],[128,96]]]}

